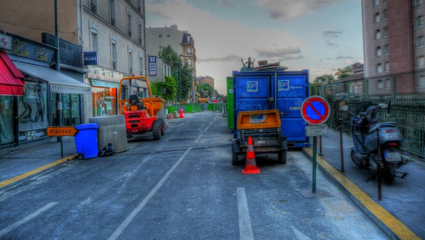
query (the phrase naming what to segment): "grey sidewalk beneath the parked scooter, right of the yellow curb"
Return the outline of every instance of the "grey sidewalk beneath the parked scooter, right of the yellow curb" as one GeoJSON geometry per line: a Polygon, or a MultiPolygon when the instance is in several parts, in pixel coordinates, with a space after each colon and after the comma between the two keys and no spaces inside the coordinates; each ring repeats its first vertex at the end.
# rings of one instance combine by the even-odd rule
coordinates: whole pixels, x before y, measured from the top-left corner
{"type": "MultiPolygon", "coordinates": [[[[313,142],[311,138],[311,142],[313,142]]],[[[345,193],[359,208],[365,208],[363,203],[356,203],[356,196],[348,193],[345,183],[341,180],[333,179],[330,173],[332,170],[341,172],[341,148],[339,131],[329,129],[327,135],[321,137],[322,139],[322,155],[323,158],[330,166],[335,169],[324,169],[323,165],[319,165],[321,171],[337,185],[341,191],[345,193]]],[[[319,137],[317,137],[319,142],[319,137]]],[[[366,193],[373,202],[379,204],[391,215],[396,217],[407,228],[420,237],[425,239],[425,164],[420,160],[410,161],[407,165],[400,167],[396,171],[407,172],[408,176],[405,178],[396,178],[393,183],[382,185],[382,199],[378,200],[378,183],[376,180],[369,180],[367,178],[371,175],[369,169],[361,169],[354,165],[350,158],[350,149],[352,147],[352,138],[348,134],[343,134],[343,156],[344,156],[344,172],[343,176],[348,178],[352,183],[366,193]]],[[[311,149],[306,154],[313,156],[311,149]]],[[[319,143],[317,144],[317,154],[319,155],[319,143]]],[[[320,156],[318,157],[320,158],[320,156]]],[[[318,159],[319,162],[319,159],[318,159]]],[[[320,164],[320,163],[319,163],[320,164]]],[[[369,200],[370,200],[369,199],[369,200]]],[[[367,210],[367,209],[366,209],[367,210]]],[[[366,213],[367,214],[367,213],[366,213]]],[[[370,218],[376,216],[369,215],[370,218]]],[[[375,222],[376,223],[376,222],[375,222]]],[[[378,223],[376,223],[378,224],[378,223]]],[[[382,229],[382,228],[381,228],[382,229]]]]}

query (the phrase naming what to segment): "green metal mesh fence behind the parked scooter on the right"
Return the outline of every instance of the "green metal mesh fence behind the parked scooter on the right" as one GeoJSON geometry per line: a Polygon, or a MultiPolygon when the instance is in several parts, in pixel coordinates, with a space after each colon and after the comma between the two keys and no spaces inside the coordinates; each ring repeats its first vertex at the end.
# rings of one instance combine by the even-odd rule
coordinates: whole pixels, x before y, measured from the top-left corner
{"type": "Polygon", "coordinates": [[[390,104],[389,109],[380,111],[380,121],[397,122],[404,138],[402,150],[425,160],[425,71],[341,80],[311,88],[311,95],[328,100],[332,112],[327,124],[337,129],[337,120],[341,118],[342,128],[348,133],[351,117],[340,110],[341,104],[348,105],[352,112],[359,112],[364,101],[390,104]]]}

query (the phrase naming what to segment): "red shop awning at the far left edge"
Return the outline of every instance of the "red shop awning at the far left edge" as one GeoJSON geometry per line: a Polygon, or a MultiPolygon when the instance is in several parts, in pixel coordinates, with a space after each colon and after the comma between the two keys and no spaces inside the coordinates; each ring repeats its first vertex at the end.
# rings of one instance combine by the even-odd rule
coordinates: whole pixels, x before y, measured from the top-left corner
{"type": "Polygon", "coordinates": [[[0,95],[23,96],[23,78],[8,54],[0,51],[0,95]]]}

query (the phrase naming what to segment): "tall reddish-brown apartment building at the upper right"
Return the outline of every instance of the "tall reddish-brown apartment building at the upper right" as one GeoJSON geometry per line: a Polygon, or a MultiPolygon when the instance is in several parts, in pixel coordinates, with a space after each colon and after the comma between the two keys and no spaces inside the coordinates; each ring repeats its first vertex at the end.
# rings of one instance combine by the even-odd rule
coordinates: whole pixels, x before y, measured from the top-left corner
{"type": "MultiPolygon", "coordinates": [[[[425,70],[424,0],[363,0],[364,73],[369,91],[391,92],[398,73],[425,70]]],[[[415,74],[398,84],[397,93],[425,88],[425,76],[415,74]]]]}

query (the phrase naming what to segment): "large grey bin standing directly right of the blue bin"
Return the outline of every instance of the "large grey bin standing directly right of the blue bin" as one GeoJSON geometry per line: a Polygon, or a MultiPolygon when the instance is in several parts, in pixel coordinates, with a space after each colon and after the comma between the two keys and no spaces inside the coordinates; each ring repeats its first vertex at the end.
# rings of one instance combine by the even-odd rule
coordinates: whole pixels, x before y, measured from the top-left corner
{"type": "Polygon", "coordinates": [[[114,145],[115,152],[127,151],[127,131],[125,130],[124,115],[113,115],[106,117],[92,117],[89,123],[97,123],[97,148],[98,151],[108,143],[114,145]]]}

